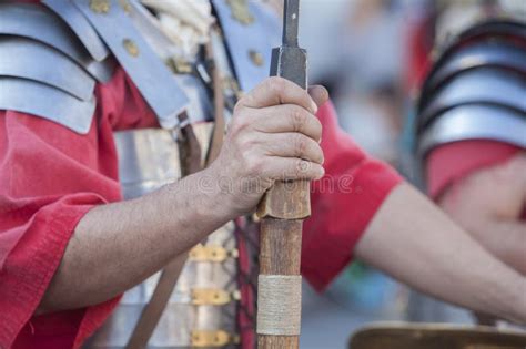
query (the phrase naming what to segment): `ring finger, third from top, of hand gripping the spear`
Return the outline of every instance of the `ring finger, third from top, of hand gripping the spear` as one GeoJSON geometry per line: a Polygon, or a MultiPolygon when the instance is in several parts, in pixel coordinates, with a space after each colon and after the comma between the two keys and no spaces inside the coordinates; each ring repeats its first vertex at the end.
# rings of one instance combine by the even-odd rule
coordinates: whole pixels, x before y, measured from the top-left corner
{"type": "Polygon", "coordinates": [[[320,144],[301,133],[272,133],[264,137],[264,148],[270,156],[297,157],[323,164],[320,144]]]}

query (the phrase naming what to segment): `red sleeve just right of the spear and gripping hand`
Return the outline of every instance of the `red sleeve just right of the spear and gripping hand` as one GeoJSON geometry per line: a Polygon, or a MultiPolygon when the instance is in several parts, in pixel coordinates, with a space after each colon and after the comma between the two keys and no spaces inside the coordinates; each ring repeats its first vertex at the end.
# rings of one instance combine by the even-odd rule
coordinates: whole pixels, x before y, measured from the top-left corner
{"type": "Polygon", "coordinates": [[[388,165],[368,157],[337,125],[331,103],[323,124],[325,176],[312,185],[312,217],[303,233],[302,274],[323,290],[350,263],[354,246],[387,194],[402,181],[388,165]]]}

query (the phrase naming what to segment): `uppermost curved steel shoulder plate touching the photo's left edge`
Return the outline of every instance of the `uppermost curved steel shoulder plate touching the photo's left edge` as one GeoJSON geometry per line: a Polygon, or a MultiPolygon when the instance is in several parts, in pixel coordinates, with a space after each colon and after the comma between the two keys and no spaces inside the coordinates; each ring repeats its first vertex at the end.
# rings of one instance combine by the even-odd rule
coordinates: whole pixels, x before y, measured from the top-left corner
{"type": "Polygon", "coordinates": [[[63,52],[92,74],[107,82],[113,72],[111,60],[94,61],[71,29],[47,8],[31,3],[0,3],[0,34],[41,41],[63,52]]]}

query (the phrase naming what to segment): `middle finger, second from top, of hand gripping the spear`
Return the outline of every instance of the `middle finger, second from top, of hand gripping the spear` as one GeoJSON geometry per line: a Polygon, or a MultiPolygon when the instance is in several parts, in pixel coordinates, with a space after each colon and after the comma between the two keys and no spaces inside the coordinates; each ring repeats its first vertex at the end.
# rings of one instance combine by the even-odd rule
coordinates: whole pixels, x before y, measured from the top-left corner
{"type": "Polygon", "coordinates": [[[282,104],[259,110],[251,116],[256,131],[265,133],[297,132],[318,142],[322,137],[322,123],[307,110],[282,104]]]}

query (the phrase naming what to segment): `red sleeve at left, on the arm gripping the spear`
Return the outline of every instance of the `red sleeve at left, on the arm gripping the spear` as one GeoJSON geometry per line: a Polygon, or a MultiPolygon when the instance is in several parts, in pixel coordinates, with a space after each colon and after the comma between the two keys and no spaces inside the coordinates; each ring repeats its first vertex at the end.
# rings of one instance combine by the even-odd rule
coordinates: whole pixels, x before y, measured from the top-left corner
{"type": "Polygon", "coordinates": [[[112,130],[148,112],[122,70],[97,96],[87,135],[0,111],[0,348],[79,347],[117,302],[33,316],[78,222],[121,199],[112,130]]]}

